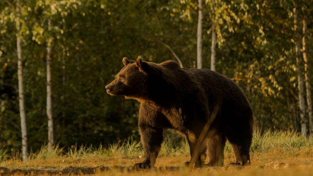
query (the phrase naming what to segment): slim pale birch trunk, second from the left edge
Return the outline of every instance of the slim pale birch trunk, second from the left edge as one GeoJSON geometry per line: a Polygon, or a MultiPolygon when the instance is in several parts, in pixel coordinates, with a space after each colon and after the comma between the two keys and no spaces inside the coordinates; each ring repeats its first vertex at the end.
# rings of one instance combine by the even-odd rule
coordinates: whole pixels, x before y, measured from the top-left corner
{"type": "MultiPolygon", "coordinates": [[[[48,28],[51,27],[51,20],[48,20],[48,28]]],[[[49,29],[48,29],[49,30],[49,29]]],[[[51,42],[49,37],[47,42],[47,117],[48,117],[48,148],[51,149],[54,145],[53,137],[53,118],[52,118],[52,103],[51,103],[51,42]]]]}

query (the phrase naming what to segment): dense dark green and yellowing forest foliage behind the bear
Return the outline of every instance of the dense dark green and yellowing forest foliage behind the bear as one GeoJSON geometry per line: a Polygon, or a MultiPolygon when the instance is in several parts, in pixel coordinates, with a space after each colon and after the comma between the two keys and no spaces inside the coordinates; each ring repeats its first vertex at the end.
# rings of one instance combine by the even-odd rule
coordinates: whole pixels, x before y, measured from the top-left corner
{"type": "MultiPolygon", "coordinates": [[[[218,36],[216,69],[244,90],[254,109],[255,126],[263,129],[259,132],[263,136],[254,138],[252,150],[267,148],[264,134],[272,127],[299,130],[293,2],[208,0],[204,4],[203,31],[207,34],[203,34],[203,67],[210,65],[209,34],[214,13],[218,36]]],[[[185,68],[194,67],[197,7],[197,1],[174,0],[22,1],[29,148],[38,150],[38,156],[44,158],[74,146],[68,148],[68,155],[81,156],[84,153],[80,148],[89,148],[85,145],[103,144],[103,148],[113,151],[126,145],[117,141],[128,137],[138,141],[138,103],[111,97],[104,87],[122,68],[121,59],[125,56],[157,63],[175,60],[160,41],[173,49],[185,68]],[[50,44],[54,135],[60,148],[45,153],[46,47],[50,44]]],[[[306,1],[297,2],[297,8],[299,20],[307,20],[306,51],[310,58],[313,8],[306,1]]],[[[21,147],[15,16],[15,1],[0,1],[0,145],[13,151],[21,147]]],[[[168,147],[165,154],[185,150],[176,146],[184,143],[176,139],[164,143],[164,148],[168,147]]],[[[299,145],[305,144],[292,140],[289,144],[290,148],[299,145]]],[[[226,151],[230,150],[227,144],[226,151]]]]}

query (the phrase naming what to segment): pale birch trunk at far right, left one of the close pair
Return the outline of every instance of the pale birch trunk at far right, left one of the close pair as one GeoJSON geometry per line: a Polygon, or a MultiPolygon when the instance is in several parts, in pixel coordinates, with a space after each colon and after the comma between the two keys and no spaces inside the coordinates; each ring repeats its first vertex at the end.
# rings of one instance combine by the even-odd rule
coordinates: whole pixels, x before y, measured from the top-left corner
{"type": "Polygon", "coordinates": [[[305,98],[304,98],[304,86],[303,86],[303,62],[300,54],[300,35],[298,32],[298,17],[296,8],[293,8],[294,12],[294,29],[295,29],[295,53],[298,66],[298,89],[299,89],[299,109],[301,119],[301,134],[303,137],[307,137],[306,119],[305,119],[305,98]]]}

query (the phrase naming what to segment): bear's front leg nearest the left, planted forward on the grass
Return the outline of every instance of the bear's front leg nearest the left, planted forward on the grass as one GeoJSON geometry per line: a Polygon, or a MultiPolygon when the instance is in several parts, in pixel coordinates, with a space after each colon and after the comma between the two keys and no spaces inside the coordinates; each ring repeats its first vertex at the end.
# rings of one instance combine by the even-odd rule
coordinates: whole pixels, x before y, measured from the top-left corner
{"type": "Polygon", "coordinates": [[[163,142],[164,116],[142,105],[139,112],[138,126],[145,159],[142,163],[136,163],[134,168],[151,168],[154,167],[163,142]]]}

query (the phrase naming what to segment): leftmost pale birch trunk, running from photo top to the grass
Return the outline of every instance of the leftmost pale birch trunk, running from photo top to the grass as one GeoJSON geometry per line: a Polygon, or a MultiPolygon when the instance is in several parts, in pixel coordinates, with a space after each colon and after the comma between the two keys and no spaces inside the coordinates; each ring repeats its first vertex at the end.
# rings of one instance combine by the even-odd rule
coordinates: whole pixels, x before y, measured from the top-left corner
{"type": "Polygon", "coordinates": [[[18,54],[18,99],[21,117],[21,130],[22,130],[22,157],[23,161],[27,159],[27,130],[26,130],[26,117],[24,109],[24,89],[23,89],[23,60],[22,60],[22,47],[21,47],[21,24],[20,24],[20,9],[19,0],[16,1],[16,47],[18,54]]]}

